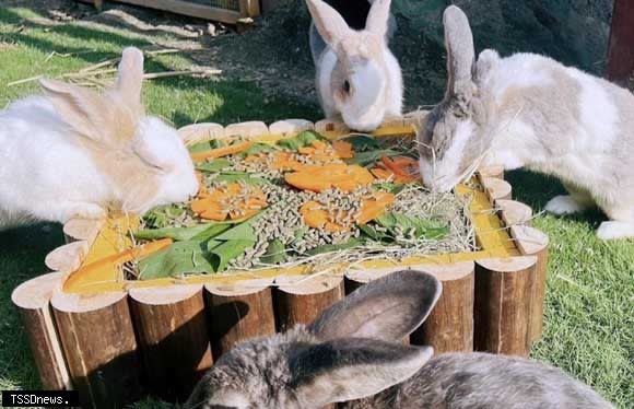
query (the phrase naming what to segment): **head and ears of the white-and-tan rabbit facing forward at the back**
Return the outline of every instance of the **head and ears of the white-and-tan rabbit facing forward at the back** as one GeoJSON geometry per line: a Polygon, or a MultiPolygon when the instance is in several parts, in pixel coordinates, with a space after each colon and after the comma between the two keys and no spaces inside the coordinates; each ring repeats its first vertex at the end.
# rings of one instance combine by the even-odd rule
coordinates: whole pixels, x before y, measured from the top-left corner
{"type": "Polygon", "coordinates": [[[390,0],[373,2],[362,31],[351,28],[322,0],[306,3],[313,16],[316,87],[326,117],[341,117],[349,128],[371,132],[385,119],[400,116],[402,74],[387,38],[396,26],[389,24],[390,0]]]}

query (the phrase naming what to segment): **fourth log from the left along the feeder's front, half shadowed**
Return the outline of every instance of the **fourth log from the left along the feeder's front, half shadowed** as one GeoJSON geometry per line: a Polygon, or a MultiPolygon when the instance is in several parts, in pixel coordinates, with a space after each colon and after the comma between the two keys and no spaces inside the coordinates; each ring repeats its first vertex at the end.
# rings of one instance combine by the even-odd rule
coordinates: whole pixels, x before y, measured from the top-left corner
{"type": "Polygon", "coordinates": [[[271,283],[272,280],[248,280],[204,287],[215,359],[238,342],[275,334],[271,283]]]}

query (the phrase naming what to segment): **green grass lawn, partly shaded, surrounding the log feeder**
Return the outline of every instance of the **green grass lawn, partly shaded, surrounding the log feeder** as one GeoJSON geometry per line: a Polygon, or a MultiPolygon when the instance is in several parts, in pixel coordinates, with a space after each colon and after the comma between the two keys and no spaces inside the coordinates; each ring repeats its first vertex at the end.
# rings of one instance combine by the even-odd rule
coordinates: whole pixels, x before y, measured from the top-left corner
{"type": "MultiPolygon", "coordinates": [[[[146,36],[105,25],[66,23],[48,26],[35,11],[0,9],[0,106],[37,90],[35,83],[7,87],[23,78],[59,75],[117,56],[127,45],[146,46],[168,37],[146,36]],[[59,55],[51,55],[56,51],[59,55]],[[70,56],[60,56],[71,54],[70,56]]],[[[148,71],[184,68],[184,56],[149,59],[148,71]]],[[[263,96],[256,84],[225,80],[172,78],[148,83],[148,109],[176,126],[193,121],[230,124],[284,117],[317,119],[305,105],[263,96]]],[[[27,137],[27,136],[24,136],[27,137]]],[[[516,199],[536,211],[562,190],[559,183],[525,172],[508,176],[516,199]]],[[[539,215],[537,227],[550,235],[545,327],[532,358],[562,367],[620,408],[634,407],[634,243],[602,243],[594,230],[602,215],[539,215]]],[[[45,255],[62,243],[58,225],[0,233],[0,389],[37,388],[11,291],[45,270],[45,255]]],[[[164,407],[154,400],[142,408],[164,407]]]]}

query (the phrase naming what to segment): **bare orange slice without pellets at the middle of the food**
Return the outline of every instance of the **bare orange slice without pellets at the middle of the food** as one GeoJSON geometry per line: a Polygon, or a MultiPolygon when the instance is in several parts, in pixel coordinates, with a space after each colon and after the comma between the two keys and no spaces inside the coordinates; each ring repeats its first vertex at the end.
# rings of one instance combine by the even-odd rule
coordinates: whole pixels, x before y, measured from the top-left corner
{"type": "Polygon", "coordinates": [[[374,182],[365,167],[340,163],[304,166],[300,172],[286,174],[284,179],[297,189],[317,192],[330,188],[348,192],[374,182]]]}

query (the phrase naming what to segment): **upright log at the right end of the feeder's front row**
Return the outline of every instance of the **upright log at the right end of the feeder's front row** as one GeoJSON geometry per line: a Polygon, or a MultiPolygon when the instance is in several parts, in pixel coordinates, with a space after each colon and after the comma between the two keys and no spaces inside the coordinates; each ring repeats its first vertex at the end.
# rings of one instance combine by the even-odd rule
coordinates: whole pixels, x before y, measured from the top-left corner
{"type": "Polygon", "coordinates": [[[537,257],[476,264],[474,349],[526,357],[537,257]]]}

